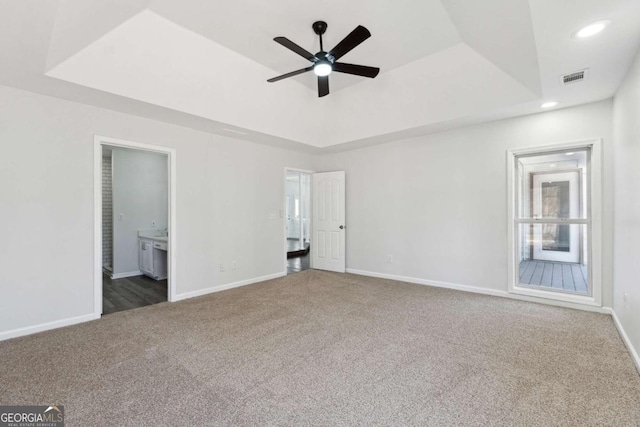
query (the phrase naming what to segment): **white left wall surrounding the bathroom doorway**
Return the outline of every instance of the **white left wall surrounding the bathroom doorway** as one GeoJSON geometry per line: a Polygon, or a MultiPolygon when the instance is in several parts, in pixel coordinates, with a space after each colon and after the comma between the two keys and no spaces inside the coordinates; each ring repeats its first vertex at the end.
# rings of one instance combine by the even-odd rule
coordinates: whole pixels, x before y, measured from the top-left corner
{"type": "Polygon", "coordinates": [[[93,313],[94,134],[176,149],[178,294],[284,271],[283,172],[309,155],[0,87],[0,339],[93,313]]]}

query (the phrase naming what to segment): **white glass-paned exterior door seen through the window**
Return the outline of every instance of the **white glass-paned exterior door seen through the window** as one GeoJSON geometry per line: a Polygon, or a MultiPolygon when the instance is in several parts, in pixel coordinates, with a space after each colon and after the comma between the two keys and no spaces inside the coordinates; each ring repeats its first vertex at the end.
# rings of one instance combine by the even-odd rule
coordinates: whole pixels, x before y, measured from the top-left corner
{"type": "MultiPolygon", "coordinates": [[[[578,218],[579,213],[578,172],[543,173],[533,176],[534,218],[578,218]]],[[[543,261],[579,262],[580,226],[540,224],[534,227],[533,258],[543,261]]]]}

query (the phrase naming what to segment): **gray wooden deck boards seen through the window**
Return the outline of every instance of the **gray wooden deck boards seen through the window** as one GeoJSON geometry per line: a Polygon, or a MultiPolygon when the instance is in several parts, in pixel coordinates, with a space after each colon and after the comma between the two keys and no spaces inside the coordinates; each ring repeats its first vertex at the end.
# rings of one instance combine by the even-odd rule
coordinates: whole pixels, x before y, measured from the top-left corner
{"type": "Polygon", "coordinates": [[[536,260],[520,262],[521,285],[586,294],[589,291],[587,274],[587,268],[580,264],[536,260]]]}

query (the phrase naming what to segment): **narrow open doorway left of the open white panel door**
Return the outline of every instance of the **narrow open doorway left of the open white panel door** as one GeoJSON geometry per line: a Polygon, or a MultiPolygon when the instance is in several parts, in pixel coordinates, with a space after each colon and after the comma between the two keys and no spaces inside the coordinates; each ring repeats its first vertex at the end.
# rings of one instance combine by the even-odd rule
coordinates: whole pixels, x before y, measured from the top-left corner
{"type": "Polygon", "coordinates": [[[311,173],[285,170],[285,253],[287,274],[310,268],[311,173]]]}

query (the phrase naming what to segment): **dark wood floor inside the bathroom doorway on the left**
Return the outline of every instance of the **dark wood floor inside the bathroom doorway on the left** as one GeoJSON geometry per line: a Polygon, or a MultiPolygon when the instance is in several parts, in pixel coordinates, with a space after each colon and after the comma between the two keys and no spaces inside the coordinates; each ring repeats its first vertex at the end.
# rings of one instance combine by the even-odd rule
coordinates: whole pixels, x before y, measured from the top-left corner
{"type": "Polygon", "coordinates": [[[111,279],[102,275],[102,314],[130,310],[167,300],[167,280],[147,276],[111,279]]]}

